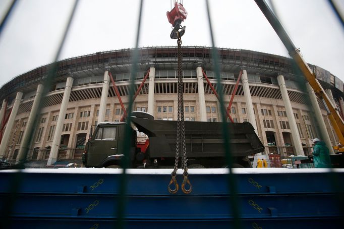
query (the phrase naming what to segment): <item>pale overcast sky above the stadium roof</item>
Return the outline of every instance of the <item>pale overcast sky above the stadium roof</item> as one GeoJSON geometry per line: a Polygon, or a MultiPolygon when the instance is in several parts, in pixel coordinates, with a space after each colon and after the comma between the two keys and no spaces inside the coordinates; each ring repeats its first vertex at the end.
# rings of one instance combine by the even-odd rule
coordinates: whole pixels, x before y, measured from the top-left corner
{"type": "MultiPolygon", "coordinates": [[[[3,17],[10,0],[0,0],[3,17]]],[[[53,61],[72,0],[20,0],[0,34],[0,87],[53,61]]],[[[344,12],[344,1],[335,1],[344,12]]],[[[60,59],[135,47],[139,0],[81,0],[60,59]]],[[[253,0],[210,0],[215,45],[289,56],[253,0]]],[[[344,81],[344,28],[326,0],[274,0],[280,20],[305,60],[344,81]]],[[[183,44],[211,46],[205,2],[184,0],[183,44]]],[[[140,47],[176,46],[166,18],[170,0],[144,2],[140,47]]]]}

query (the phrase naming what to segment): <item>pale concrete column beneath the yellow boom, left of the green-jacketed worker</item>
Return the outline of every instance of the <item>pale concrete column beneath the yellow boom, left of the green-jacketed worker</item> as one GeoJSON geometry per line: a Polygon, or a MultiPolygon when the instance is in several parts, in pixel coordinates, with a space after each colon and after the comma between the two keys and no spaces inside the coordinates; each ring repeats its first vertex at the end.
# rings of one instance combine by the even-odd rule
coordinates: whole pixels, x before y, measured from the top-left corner
{"type": "Polygon", "coordinates": [[[316,122],[318,123],[320,133],[321,133],[321,137],[319,136],[318,138],[320,138],[320,140],[325,142],[328,150],[330,151],[330,154],[334,154],[331,139],[330,139],[330,136],[327,132],[326,125],[325,125],[324,119],[322,117],[322,113],[321,113],[321,110],[319,107],[317,97],[316,97],[314,90],[311,87],[311,85],[309,85],[309,83],[306,83],[306,86],[307,86],[307,92],[308,92],[309,97],[311,99],[311,105],[312,105],[314,113],[315,113],[315,119],[316,119],[316,122]]]}

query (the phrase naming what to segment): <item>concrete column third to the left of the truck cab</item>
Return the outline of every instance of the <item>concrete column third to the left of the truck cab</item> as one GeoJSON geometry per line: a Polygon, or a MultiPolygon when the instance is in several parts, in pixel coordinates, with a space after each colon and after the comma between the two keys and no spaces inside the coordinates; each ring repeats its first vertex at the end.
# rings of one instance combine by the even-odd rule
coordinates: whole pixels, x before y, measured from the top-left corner
{"type": "Polygon", "coordinates": [[[14,104],[12,106],[11,115],[10,115],[10,118],[7,122],[7,126],[6,126],[6,129],[5,129],[4,134],[3,134],[3,139],[2,139],[1,144],[0,144],[0,155],[4,155],[6,152],[6,147],[7,147],[7,144],[9,142],[9,138],[10,138],[10,135],[11,135],[11,132],[13,129],[13,124],[14,124],[15,118],[17,116],[17,112],[19,109],[20,100],[22,99],[22,96],[23,96],[23,92],[17,92],[17,96],[16,96],[16,98],[14,100],[14,104]]]}

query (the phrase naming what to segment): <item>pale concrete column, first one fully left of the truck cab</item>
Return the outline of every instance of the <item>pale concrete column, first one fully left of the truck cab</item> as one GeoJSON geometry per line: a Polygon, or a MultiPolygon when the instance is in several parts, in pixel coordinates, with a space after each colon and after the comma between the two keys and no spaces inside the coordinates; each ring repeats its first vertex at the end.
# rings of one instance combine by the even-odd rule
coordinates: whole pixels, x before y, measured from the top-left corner
{"type": "Polygon", "coordinates": [[[66,110],[68,106],[69,96],[71,95],[72,85],[73,85],[73,78],[68,77],[67,82],[66,82],[66,88],[64,91],[64,97],[62,99],[62,103],[60,107],[58,122],[56,122],[56,129],[54,133],[54,138],[52,139],[50,155],[49,155],[47,165],[53,164],[58,159],[59,148],[60,148],[60,143],[61,143],[62,127],[65,121],[65,115],[66,115],[66,110]]]}

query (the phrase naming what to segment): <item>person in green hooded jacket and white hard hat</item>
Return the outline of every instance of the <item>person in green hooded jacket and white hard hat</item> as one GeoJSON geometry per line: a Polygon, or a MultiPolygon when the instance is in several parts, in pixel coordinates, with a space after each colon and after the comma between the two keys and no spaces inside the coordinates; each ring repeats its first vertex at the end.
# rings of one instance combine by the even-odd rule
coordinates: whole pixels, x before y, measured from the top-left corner
{"type": "Polygon", "coordinates": [[[314,167],[316,168],[330,168],[331,159],[328,148],[326,147],[323,141],[320,141],[318,138],[313,139],[314,142],[314,151],[313,151],[313,162],[314,167]]]}

